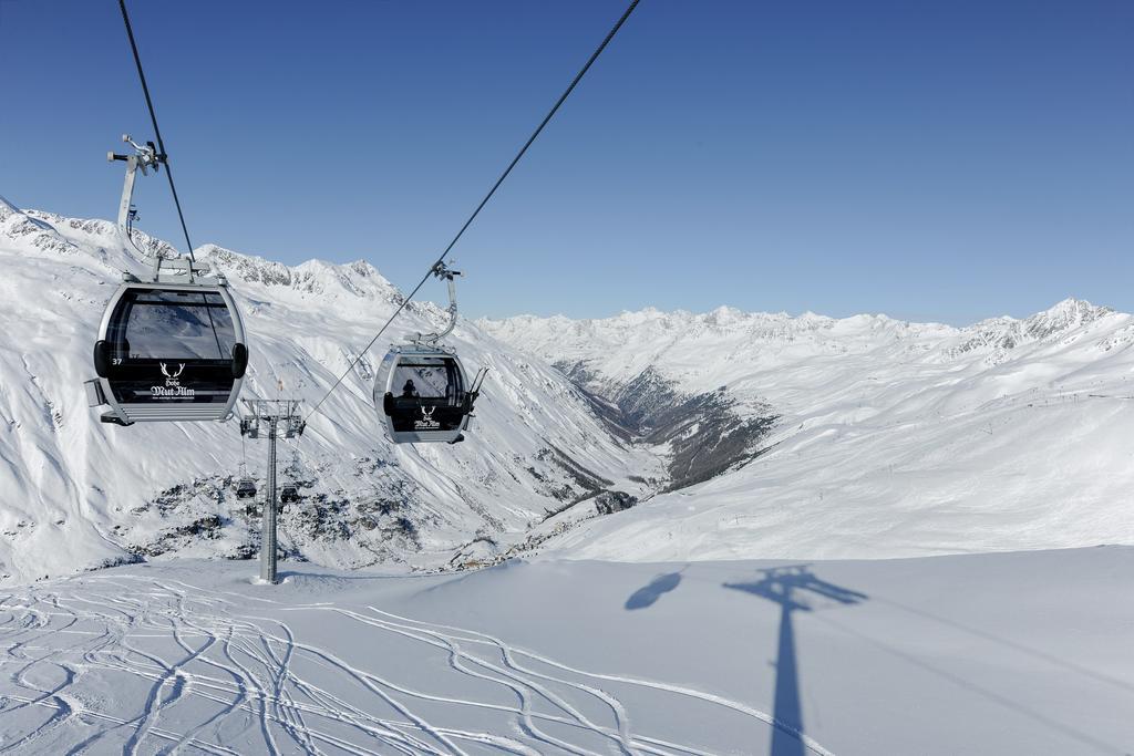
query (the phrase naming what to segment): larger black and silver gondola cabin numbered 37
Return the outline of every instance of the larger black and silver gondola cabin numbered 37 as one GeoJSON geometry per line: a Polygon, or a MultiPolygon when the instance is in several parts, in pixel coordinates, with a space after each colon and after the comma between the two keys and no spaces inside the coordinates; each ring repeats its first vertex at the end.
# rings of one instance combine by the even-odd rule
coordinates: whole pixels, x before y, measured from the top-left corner
{"type": "Polygon", "coordinates": [[[223,421],[248,364],[228,286],[127,281],[107,305],[94,345],[92,405],[105,423],[223,421]]]}

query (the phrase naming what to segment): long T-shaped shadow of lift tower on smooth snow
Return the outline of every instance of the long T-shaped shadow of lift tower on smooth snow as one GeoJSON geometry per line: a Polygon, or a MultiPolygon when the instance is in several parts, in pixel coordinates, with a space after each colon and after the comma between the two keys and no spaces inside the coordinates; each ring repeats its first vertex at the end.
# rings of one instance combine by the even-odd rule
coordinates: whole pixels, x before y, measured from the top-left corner
{"type": "Polygon", "coordinates": [[[780,605],[779,644],[776,654],[776,697],[772,716],[771,756],[803,756],[803,710],[799,705],[799,673],[796,665],[793,612],[810,612],[810,598],[828,600],[839,605],[853,605],[869,596],[843,588],[815,577],[807,564],[773,567],[760,570],[755,583],[726,583],[726,588],[751,593],[780,605]]]}

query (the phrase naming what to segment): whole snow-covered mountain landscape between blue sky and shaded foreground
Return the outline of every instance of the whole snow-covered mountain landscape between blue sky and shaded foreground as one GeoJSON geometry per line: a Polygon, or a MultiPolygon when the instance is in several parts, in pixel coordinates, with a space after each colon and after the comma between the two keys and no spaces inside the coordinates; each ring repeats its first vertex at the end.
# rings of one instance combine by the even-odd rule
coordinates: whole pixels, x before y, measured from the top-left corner
{"type": "MultiPolygon", "coordinates": [[[[310,407],[401,297],[362,262],[197,254],[245,313],[246,397],[282,384],[310,407]]],[[[107,221],[0,203],[0,576],[255,554],[232,479],[245,455],[263,475],[262,443],[232,424],[108,426],[86,407],[102,307],[149,261],[107,221]]],[[[443,317],[414,303],[389,341],[443,317]]],[[[462,321],[467,366],[492,369],[468,441],[388,442],[366,377],[383,340],[282,449],[303,500],[281,543],[347,568],[534,547],[703,560],[1129,543],[1132,341],[1129,315],[1073,299],[964,329],[730,308],[462,321]]]]}

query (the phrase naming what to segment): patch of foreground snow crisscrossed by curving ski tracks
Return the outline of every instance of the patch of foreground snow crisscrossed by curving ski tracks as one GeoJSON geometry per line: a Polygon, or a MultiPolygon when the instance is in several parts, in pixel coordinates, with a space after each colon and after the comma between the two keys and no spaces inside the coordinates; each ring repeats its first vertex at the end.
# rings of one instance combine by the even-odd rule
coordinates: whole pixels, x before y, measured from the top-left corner
{"type": "Polygon", "coordinates": [[[756,737],[773,727],[830,753],[747,704],[575,669],[475,630],[172,579],[88,576],[14,592],[0,600],[0,754],[713,753],[636,731],[612,688],[671,697],[674,711],[696,700],[744,717],[756,737]],[[397,679],[381,654],[348,662],[285,621],[322,613],[367,645],[420,648],[417,673],[397,679]]]}

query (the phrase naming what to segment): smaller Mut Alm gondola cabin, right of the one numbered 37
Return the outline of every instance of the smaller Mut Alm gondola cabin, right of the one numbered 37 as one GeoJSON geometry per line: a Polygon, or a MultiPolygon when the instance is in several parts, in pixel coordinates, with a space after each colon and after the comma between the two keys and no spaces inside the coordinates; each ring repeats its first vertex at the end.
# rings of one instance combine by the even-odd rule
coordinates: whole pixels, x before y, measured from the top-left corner
{"type": "Polygon", "coordinates": [[[474,399],[456,352],[435,345],[391,348],[374,380],[374,405],[395,443],[462,441],[474,399]]]}

